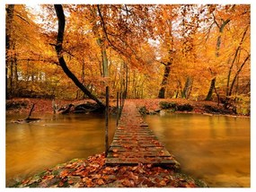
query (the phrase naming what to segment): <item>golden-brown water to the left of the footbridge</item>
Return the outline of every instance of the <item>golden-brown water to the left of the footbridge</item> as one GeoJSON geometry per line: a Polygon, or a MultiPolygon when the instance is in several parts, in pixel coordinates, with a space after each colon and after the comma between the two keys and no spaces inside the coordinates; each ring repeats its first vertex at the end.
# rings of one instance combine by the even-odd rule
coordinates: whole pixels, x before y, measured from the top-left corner
{"type": "MultiPolygon", "coordinates": [[[[104,151],[103,115],[45,116],[31,124],[6,117],[6,186],[57,163],[104,151]]],[[[110,137],[115,119],[110,118],[110,137]]]]}

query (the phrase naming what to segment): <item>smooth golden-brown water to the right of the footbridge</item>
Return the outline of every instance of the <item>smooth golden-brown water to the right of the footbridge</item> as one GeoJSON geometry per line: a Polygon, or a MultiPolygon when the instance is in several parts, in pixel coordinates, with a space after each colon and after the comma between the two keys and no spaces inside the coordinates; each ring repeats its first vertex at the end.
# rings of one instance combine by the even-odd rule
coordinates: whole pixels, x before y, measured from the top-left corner
{"type": "Polygon", "coordinates": [[[250,187],[250,119],[166,114],[146,122],[181,169],[210,187],[250,187]]]}

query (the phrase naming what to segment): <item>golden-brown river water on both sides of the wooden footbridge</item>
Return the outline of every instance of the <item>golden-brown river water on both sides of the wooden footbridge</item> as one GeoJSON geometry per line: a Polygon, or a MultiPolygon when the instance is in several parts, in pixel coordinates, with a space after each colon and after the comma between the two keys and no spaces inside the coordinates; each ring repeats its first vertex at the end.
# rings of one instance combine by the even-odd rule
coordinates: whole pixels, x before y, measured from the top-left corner
{"type": "MultiPolygon", "coordinates": [[[[6,117],[6,187],[58,163],[104,151],[103,115],[46,115],[36,123],[6,117]]],[[[36,117],[33,117],[36,118],[36,117]]],[[[250,119],[193,114],[147,116],[181,170],[209,187],[250,187],[250,119]]],[[[115,119],[110,118],[110,138],[115,119]]]]}

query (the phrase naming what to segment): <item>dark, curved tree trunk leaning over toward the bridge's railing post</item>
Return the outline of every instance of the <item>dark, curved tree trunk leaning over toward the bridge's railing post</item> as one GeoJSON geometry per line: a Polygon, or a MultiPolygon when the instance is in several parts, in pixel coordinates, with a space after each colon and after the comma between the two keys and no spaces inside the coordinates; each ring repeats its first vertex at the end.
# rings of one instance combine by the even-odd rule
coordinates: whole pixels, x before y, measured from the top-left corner
{"type": "Polygon", "coordinates": [[[90,99],[95,100],[99,106],[102,108],[105,108],[105,105],[102,103],[101,100],[98,100],[96,96],[92,94],[89,90],[87,90],[86,87],[84,87],[84,84],[81,83],[75,74],[73,74],[69,68],[66,65],[66,61],[63,57],[63,48],[62,43],[64,39],[64,31],[65,31],[65,15],[63,12],[63,7],[61,4],[55,4],[54,5],[55,11],[57,13],[57,21],[58,21],[58,30],[57,30],[57,45],[55,47],[57,52],[57,58],[58,63],[62,67],[64,73],[75,83],[75,85],[84,92],[90,99]]]}

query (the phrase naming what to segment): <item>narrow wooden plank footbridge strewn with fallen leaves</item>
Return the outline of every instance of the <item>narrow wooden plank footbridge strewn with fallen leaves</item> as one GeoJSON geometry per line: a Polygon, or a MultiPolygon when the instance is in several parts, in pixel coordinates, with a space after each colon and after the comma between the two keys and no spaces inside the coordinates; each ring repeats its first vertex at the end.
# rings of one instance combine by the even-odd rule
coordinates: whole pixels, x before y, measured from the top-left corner
{"type": "Polygon", "coordinates": [[[136,105],[126,102],[122,110],[106,164],[153,163],[178,166],[180,163],[164,148],[148,128],[136,105]]]}

